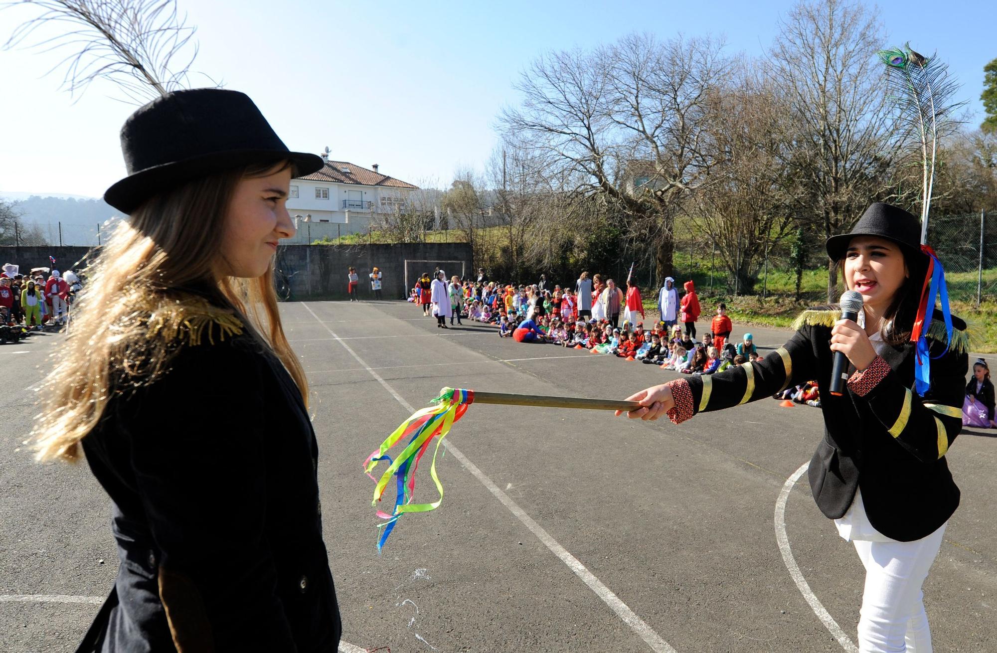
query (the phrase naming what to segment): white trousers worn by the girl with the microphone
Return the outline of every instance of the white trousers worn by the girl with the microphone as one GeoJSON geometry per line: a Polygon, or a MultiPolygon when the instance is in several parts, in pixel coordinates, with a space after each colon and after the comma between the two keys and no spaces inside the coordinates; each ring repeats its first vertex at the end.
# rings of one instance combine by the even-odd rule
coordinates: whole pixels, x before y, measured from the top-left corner
{"type": "Polygon", "coordinates": [[[854,540],[865,567],[860,653],[931,653],[921,585],[938,555],[946,525],[912,542],[854,540]]]}

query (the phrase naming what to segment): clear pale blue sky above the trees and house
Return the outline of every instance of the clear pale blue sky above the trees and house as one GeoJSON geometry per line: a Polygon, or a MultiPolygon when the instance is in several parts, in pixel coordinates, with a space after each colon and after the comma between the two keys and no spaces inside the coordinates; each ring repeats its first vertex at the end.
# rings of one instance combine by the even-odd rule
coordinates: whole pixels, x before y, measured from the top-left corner
{"type": "MultiPolygon", "coordinates": [[[[333,159],[380,163],[386,174],[428,185],[484,165],[497,143],[498,111],[516,102],[513,81],[547,50],[649,32],[723,36],[729,53],[757,56],[792,4],[178,2],[197,26],[193,69],[247,93],[290,149],[328,146],[333,159]]],[[[0,39],[25,15],[19,11],[0,12],[0,39]]],[[[997,2],[908,0],[880,6],[880,16],[889,44],[909,40],[949,62],[978,124],[982,69],[997,58],[997,2]]],[[[73,104],[59,89],[61,70],[44,76],[58,60],[0,51],[0,191],[99,196],[125,174],[118,132],[135,107],[111,99],[115,89],[105,82],[73,104]]]]}

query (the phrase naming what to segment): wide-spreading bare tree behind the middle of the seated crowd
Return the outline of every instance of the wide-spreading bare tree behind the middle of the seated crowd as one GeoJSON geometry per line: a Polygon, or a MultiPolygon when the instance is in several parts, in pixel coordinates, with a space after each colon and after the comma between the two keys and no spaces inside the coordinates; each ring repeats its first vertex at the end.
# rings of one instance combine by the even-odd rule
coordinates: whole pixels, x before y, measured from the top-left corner
{"type": "Polygon", "coordinates": [[[680,202],[713,164],[704,118],[726,75],[720,51],[710,39],[632,35],[550,53],[515,85],[522,104],[499,117],[503,136],[523,143],[561,190],[618,205],[633,234],[654,244],[659,278],[672,273],[680,202]]]}

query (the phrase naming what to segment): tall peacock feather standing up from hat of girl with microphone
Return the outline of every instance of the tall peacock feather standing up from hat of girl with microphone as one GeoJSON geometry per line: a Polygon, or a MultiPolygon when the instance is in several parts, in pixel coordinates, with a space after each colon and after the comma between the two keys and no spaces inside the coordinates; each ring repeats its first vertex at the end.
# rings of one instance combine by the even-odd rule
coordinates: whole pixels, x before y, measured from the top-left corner
{"type": "Polygon", "coordinates": [[[957,129],[954,114],[965,102],[953,101],[959,84],[937,56],[924,57],[909,42],[880,50],[878,56],[899,112],[897,138],[912,149],[921,168],[921,243],[926,243],[938,141],[957,129]]]}

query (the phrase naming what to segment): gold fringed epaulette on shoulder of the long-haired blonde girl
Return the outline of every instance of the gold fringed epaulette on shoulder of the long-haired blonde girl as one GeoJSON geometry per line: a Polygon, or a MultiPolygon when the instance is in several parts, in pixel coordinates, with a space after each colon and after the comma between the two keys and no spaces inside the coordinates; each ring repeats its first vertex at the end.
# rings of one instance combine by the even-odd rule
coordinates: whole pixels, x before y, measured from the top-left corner
{"type": "Polygon", "coordinates": [[[196,347],[205,335],[213,345],[215,335],[224,340],[241,333],[242,322],[231,310],[213,306],[195,295],[184,295],[182,299],[168,298],[154,308],[146,338],[196,347]]]}

